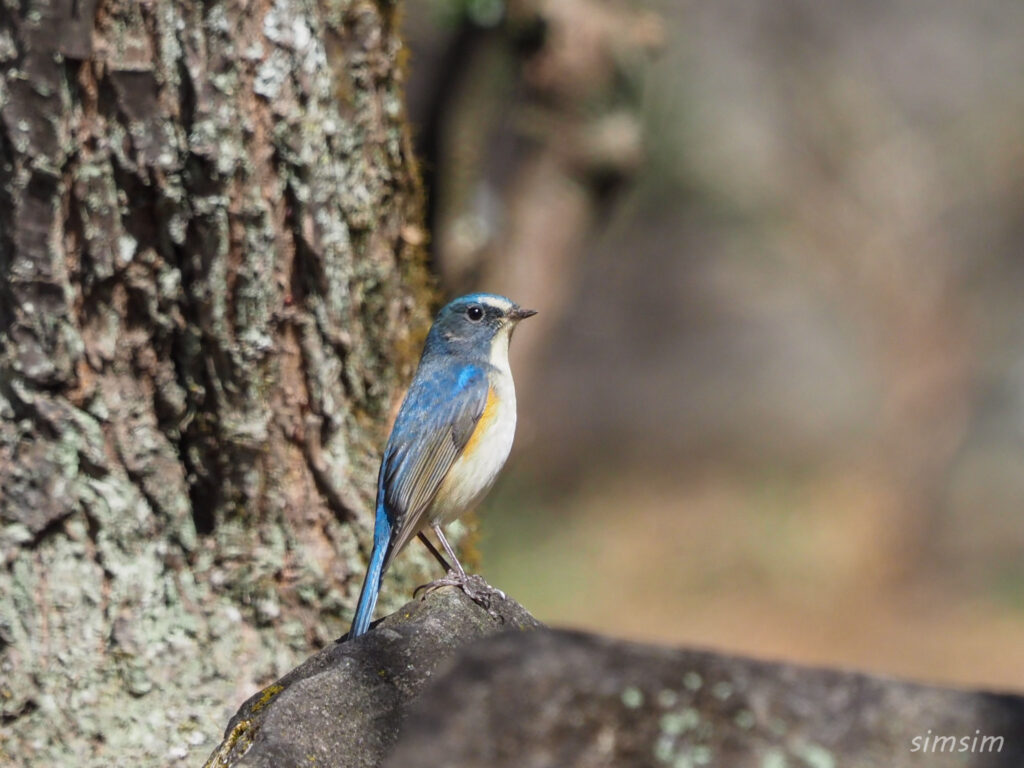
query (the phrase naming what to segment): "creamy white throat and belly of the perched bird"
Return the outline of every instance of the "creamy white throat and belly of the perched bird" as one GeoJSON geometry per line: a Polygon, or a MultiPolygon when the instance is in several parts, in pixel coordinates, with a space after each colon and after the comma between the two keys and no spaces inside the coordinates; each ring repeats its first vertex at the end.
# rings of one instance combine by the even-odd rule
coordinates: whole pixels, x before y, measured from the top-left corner
{"type": "Polygon", "coordinates": [[[509,370],[508,334],[495,339],[490,365],[490,387],[495,393],[495,414],[485,431],[474,440],[449,470],[431,505],[431,523],[444,524],[469,511],[490,489],[505,466],[515,437],[515,384],[509,370]]]}

